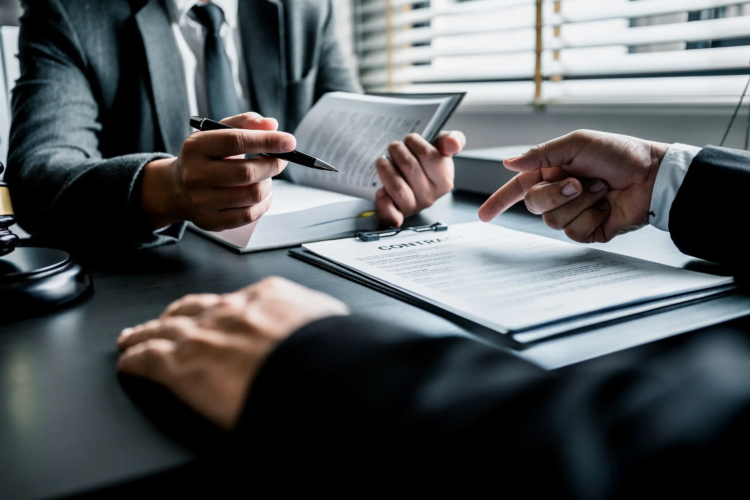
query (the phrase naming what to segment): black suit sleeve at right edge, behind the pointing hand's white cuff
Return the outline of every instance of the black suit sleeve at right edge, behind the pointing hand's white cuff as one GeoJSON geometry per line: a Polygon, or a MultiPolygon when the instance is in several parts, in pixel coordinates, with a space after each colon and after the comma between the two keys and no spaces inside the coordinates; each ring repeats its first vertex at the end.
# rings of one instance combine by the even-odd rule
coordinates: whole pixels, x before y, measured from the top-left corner
{"type": "Polygon", "coordinates": [[[669,232],[679,251],[736,269],[748,268],[748,193],[748,151],[715,146],[701,149],[669,212],[669,232]]]}

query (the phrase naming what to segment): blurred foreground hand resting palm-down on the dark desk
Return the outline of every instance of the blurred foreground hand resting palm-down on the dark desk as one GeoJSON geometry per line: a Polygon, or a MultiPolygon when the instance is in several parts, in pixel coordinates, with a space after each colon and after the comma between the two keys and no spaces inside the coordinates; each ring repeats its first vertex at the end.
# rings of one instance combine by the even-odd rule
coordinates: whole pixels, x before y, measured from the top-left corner
{"type": "Polygon", "coordinates": [[[231,429],[278,343],[317,319],[347,314],[335,298],[279,277],[225,295],[187,295],[159,319],[122,331],[119,370],[166,386],[231,429]]]}

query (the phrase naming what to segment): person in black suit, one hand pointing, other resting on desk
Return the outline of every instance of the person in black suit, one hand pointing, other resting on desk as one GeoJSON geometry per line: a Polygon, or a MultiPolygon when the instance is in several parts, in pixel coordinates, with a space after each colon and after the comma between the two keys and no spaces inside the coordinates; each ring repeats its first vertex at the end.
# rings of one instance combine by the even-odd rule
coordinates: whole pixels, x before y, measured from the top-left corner
{"type": "MultiPolygon", "coordinates": [[[[568,235],[599,241],[657,218],[652,196],[672,196],[664,186],[679,169],[686,175],[673,202],[659,202],[671,204],[673,240],[744,267],[738,228],[750,154],[697,149],[573,133],[509,160],[525,173],[480,214],[490,219],[526,193],[548,223],[568,220],[568,235]],[[575,193],[565,189],[571,183],[575,193]]],[[[743,487],[750,339],[730,328],[668,352],[644,348],[544,372],[467,338],[349,316],[334,298],[269,278],[234,294],[188,295],[124,330],[118,346],[120,370],[165,385],[233,430],[254,470],[354,464],[366,474],[398,464],[434,489],[471,469],[466,487],[492,481],[524,498],[724,496],[743,487]],[[448,471],[425,482],[425,463],[448,471]]]]}

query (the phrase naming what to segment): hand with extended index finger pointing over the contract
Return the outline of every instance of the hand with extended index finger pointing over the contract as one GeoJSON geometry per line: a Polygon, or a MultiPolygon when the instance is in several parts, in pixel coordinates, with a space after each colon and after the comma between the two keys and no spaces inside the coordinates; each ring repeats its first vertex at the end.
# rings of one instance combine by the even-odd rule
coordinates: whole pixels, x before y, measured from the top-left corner
{"type": "Polygon", "coordinates": [[[523,199],[544,223],[581,243],[606,243],[648,223],[668,144],[576,130],[505,160],[520,174],[479,208],[487,221],[523,199]],[[602,182],[603,181],[603,182],[602,182]]]}

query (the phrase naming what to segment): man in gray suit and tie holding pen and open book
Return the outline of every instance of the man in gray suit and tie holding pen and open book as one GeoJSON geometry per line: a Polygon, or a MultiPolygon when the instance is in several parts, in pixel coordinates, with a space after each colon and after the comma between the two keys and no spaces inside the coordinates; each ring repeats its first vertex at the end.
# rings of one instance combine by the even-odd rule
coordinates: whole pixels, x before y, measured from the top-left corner
{"type": "MultiPolygon", "coordinates": [[[[5,180],[32,234],[176,241],[190,220],[269,208],[290,133],[328,91],[361,91],[329,0],[27,0],[5,180]],[[190,134],[190,115],[245,130],[190,134]],[[269,117],[269,118],[264,118],[269,117]],[[189,136],[189,137],[188,137],[189,136]]],[[[452,154],[414,134],[377,160],[380,217],[400,225],[452,188],[452,154]]]]}

